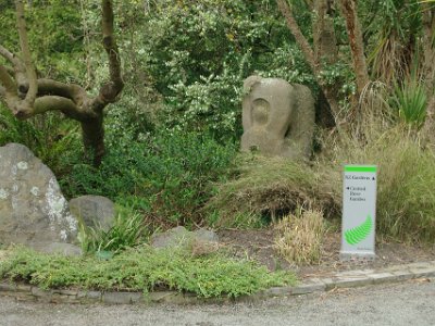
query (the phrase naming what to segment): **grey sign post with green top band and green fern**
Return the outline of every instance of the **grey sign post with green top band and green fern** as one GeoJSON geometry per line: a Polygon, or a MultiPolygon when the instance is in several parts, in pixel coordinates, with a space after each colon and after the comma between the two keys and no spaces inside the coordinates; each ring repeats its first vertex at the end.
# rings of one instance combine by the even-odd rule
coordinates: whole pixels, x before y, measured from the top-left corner
{"type": "Polygon", "coordinates": [[[345,165],[341,260],[374,260],[376,166],[345,165]]]}

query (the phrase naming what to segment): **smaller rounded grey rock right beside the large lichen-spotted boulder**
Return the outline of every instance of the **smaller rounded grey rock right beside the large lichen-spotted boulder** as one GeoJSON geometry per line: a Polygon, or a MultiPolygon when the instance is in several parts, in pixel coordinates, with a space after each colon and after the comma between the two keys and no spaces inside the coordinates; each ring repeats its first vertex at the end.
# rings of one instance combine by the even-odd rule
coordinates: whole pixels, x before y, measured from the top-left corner
{"type": "Polygon", "coordinates": [[[109,230],[113,226],[115,206],[113,202],[102,196],[82,196],[70,200],[70,211],[86,226],[109,230]]]}

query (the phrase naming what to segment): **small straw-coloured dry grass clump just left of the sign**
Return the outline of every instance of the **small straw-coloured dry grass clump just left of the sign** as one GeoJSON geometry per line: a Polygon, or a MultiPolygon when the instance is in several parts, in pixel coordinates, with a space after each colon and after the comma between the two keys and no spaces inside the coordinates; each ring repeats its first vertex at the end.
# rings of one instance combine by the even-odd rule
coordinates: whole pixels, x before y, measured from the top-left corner
{"type": "Polygon", "coordinates": [[[289,263],[315,263],[321,256],[324,235],[323,214],[306,211],[300,216],[287,215],[275,225],[278,234],[274,248],[289,263]]]}

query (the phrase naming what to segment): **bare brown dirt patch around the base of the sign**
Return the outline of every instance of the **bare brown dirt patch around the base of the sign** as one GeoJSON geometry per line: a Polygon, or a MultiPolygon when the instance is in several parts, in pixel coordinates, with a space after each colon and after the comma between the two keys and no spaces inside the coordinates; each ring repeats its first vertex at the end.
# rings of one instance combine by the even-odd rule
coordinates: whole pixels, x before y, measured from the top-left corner
{"type": "Polygon", "coordinates": [[[322,244],[321,260],[315,265],[289,264],[281,259],[273,249],[274,230],[221,230],[221,242],[237,258],[250,258],[268,266],[271,271],[291,269],[300,278],[326,277],[339,271],[380,268],[389,265],[433,261],[435,247],[410,246],[398,242],[376,243],[375,261],[339,260],[340,234],[327,233],[322,244]]]}

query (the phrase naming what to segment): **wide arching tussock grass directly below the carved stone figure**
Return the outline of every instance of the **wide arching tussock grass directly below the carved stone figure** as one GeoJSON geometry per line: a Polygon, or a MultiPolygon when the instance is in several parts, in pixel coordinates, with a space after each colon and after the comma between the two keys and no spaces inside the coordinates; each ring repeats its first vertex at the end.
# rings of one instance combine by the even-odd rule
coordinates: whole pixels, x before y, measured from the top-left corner
{"type": "Polygon", "coordinates": [[[217,226],[232,226],[233,216],[243,214],[276,220],[299,206],[337,213],[340,197],[333,183],[321,183],[331,176],[322,176],[318,166],[262,155],[240,154],[238,160],[237,177],[221,185],[207,208],[219,211],[217,226]]]}

